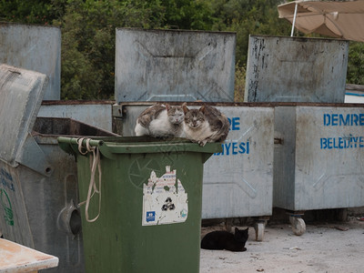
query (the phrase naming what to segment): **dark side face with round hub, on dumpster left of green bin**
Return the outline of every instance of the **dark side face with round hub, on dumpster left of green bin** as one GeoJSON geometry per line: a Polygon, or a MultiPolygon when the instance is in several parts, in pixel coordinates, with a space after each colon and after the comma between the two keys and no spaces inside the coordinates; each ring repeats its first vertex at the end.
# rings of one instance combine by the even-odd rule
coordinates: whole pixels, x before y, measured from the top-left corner
{"type": "Polygon", "coordinates": [[[56,143],[40,147],[54,166],[51,177],[19,166],[19,175],[26,181],[22,187],[27,193],[25,206],[35,249],[59,258],[58,268],[49,272],[84,272],[75,157],[64,153],[56,143]]]}

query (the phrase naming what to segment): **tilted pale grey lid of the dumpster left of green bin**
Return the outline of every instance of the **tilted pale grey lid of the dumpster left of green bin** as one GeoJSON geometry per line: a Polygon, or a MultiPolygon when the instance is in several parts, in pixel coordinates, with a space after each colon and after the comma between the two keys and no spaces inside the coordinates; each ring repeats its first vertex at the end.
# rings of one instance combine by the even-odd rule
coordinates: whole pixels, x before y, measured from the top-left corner
{"type": "Polygon", "coordinates": [[[0,159],[13,167],[33,129],[47,83],[44,74],[0,65],[0,159]]]}

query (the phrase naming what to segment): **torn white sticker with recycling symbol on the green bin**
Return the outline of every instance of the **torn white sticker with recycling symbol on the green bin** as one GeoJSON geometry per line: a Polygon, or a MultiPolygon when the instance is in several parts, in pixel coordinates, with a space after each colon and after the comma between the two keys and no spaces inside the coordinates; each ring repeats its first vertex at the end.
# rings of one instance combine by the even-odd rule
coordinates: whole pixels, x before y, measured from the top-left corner
{"type": "Polygon", "coordinates": [[[176,170],[166,166],[166,173],[157,177],[152,171],[143,185],[143,226],[181,223],[187,220],[187,193],[176,170]],[[176,185],[177,184],[177,185],[176,185]]]}

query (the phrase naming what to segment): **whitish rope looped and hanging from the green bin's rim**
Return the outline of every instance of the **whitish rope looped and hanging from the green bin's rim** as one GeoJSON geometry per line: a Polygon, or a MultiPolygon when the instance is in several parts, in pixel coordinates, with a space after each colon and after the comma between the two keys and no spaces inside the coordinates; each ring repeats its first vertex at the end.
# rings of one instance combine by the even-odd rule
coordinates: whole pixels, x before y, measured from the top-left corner
{"type": "Polygon", "coordinates": [[[95,222],[97,218],[100,216],[101,211],[101,164],[100,164],[100,151],[97,147],[91,147],[90,146],[90,138],[81,137],[77,139],[78,144],[78,151],[82,155],[86,155],[89,152],[92,152],[92,155],[90,155],[90,169],[91,169],[91,177],[90,177],[90,183],[88,185],[88,192],[87,192],[87,198],[86,201],[81,202],[78,204],[78,206],[82,206],[86,203],[85,207],[85,216],[87,222],[95,222]],[[86,147],[83,147],[83,142],[86,141],[86,147]],[[83,151],[83,149],[86,149],[86,151],[83,151]],[[95,176],[96,176],[96,168],[98,170],[98,189],[96,187],[95,182],[95,176]],[[88,207],[90,205],[91,198],[94,197],[95,194],[98,194],[98,214],[95,218],[90,219],[88,216],[88,207]]]}

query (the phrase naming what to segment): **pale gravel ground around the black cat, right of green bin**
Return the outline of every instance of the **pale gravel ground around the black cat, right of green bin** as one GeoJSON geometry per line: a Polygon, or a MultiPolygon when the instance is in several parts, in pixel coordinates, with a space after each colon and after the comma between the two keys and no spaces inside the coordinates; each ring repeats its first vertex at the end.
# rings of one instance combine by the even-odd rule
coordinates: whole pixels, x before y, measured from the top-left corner
{"type": "MultiPolygon", "coordinates": [[[[202,227],[201,236],[216,229],[222,227],[202,227]]],[[[246,252],[201,249],[200,273],[362,273],[364,221],[350,217],[338,224],[307,224],[301,236],[294,235],[288,224],[268,224],[261,242],[255,240],[255,230],[249,227],[246,248],[246,252]]]]}

